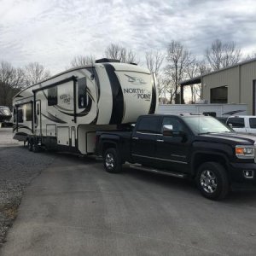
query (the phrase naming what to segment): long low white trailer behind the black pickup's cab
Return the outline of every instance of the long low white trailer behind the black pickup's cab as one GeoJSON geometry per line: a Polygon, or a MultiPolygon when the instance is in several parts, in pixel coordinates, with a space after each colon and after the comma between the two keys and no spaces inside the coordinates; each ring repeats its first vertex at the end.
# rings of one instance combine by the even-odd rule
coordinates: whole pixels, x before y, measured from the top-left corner
{"type": "Polygon", "coordinates": [[[246,115],[247,104],[160,104],[156,113],[202,113],[204,115],[225,118],[235,114],[246,115]]]}

